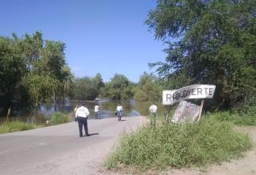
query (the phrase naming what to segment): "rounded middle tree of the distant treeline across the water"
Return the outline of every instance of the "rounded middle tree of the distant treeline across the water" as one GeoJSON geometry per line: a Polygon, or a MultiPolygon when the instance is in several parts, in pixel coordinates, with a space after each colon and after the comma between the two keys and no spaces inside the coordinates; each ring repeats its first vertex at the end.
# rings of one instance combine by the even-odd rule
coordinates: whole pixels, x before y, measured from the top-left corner
{"type": "Polygon", "coordinates": [[[111,79],[111,82],[108,82],[105,87],[102,88],[101,95],[114,100],[124,100],[131,98],[131,89],[132,85],[129,79],[122,74],[116,73],[111,79]]]}

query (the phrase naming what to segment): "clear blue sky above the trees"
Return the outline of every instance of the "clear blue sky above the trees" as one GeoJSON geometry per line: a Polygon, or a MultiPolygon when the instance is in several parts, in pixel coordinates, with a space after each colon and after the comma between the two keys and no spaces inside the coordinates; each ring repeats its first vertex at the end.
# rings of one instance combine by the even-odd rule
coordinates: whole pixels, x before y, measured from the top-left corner
{"type": "Polygon", "coordinates": [[[154,0],[1,0],[0,36],[40,31],[44,39],[66,44],[65,59],[76,77],[115,73],[138,82],[163,62],[165,45],[144,22],[154,0]]]}

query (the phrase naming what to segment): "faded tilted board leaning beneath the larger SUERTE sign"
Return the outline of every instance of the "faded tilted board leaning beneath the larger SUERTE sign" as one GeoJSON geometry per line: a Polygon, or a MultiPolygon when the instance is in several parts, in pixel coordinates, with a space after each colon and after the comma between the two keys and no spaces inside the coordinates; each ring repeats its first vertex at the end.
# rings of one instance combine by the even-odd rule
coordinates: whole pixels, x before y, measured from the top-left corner
{"type": "Polygon", "coordinates": [[[179,105],[175,110],[174,118],[171,120],[171,122],[179,123],[186,121],[195,121],[199,113],[200,106],[195,105],[191,102],[180,101],[179,105]]]}

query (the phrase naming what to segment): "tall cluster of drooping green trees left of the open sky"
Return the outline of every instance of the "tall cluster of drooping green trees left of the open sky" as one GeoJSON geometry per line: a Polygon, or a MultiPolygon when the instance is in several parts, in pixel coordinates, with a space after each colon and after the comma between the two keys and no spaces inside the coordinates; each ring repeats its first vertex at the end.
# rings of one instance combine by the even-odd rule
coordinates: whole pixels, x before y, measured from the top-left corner
{"type": "Polygon", "coordinates": [[[0,107],[25,108],[54,97],[63,102],[73,76],[65,63],[65,44],[42,39],[0,36],[0,107]]]}

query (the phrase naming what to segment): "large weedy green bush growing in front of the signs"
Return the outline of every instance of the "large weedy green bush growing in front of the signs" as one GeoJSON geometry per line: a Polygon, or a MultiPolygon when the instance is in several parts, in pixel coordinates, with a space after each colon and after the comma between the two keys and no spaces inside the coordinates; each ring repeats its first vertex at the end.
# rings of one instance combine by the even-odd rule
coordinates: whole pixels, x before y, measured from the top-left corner
{"type": "Polygon", "coordinates": [[[145,126],[136,132],[123,133],[105,165],[109,169],[162,170],[237,158],[252,147],[252,140],[233,128],[231,122],[212,117],[204,117],[198,124],[145,126]]]}

